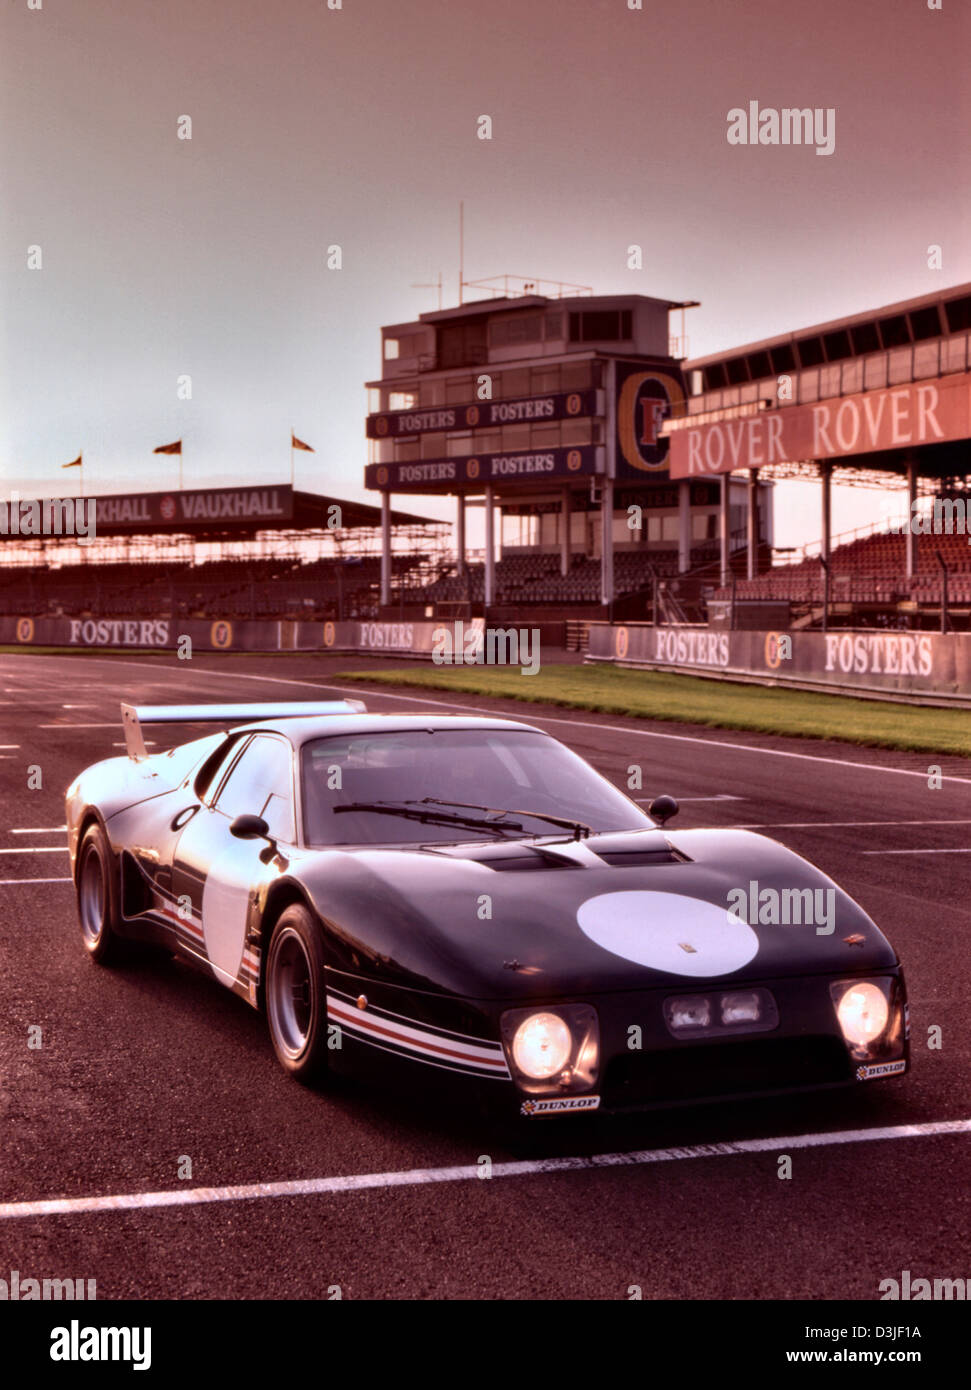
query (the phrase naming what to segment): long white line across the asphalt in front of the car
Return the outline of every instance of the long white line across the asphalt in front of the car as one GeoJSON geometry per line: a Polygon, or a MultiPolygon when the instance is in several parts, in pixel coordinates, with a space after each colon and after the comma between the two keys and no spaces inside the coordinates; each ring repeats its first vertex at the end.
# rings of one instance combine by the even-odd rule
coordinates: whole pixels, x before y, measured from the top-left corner
{"type": "MultiPolygon", "coordinates": [[[[539,1120],[538,1123],[542,1123],[539,1120]]],[[[536,1173],[589,1172],[597,1168],[636,1168],[686,1158],[727,1158],[735,1154],[778,1154],[828,1144],[865,1144],[879,1138],[927,1138],[968,1134],[971,1120],[938,1120],[929,1125],[890,1125],[882,1129],[836,1130],[829,1134],[796,1134],[782,1138],[746,1138],[728,1144],[692,1144],[686,1148],[653,1148],[633,1154],[593,1154],[589,1158],[540,1158],[493,1163],[492,1177],[531,1177],[536,1173]]],[[[418,1187],[426,1183],[479,1182],[476,1165],[463,1168],[411,1168],[390,1173],[358,1173],[353,1177],[299,1177],[285,1183],[249,1183],[238,1187],[168,1188],[157,1193],[119,1193],[111,1197],[54,1197],[35,1202],[0,1202],[0,1220],[18,1216],[61,1216],[74,1212],[133,1211],[153,1207],[196,1207],[203,1202],[239,1202],[257,1197],[325,1197],[375,1187],[418,1187]]]]}

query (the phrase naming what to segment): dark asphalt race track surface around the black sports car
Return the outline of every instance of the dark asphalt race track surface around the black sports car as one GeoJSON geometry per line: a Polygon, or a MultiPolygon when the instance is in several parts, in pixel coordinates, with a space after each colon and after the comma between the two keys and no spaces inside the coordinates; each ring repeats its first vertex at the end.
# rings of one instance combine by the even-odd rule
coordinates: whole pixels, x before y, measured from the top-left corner
{"type": "Polygon", "coordinates": [[[121,972],[83,958],[63,794],[119,751],[118,702],[307,699],[365,664],[0,656],[0,1276],[96,1279],[99,1298],[339,1286],[407,1300],[620,1300],[635,1284],[645,1298],[874,1300],[903,1270],[971,1276],[961,759],[360,688],[375,710],[506,709],[621,785],[640,763],[643,796],[682,801],[675,826],[753,826],[814,859],[904,960],[903,1081],[622,1125],[540,1120],[551,1158],[524,1158],[421,1097],[300,1088],[257,1013],[164,956],[121,972]]]}

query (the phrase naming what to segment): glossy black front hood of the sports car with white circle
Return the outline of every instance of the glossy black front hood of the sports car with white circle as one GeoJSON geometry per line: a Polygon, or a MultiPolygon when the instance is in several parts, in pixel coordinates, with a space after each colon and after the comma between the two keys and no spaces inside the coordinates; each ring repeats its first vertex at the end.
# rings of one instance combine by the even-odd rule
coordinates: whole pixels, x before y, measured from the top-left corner
{"type": "Polygon", "coordinates": [[[897,963],[832,878],[752,831],[314,851],[292,873],[331,927],[339,967],[468,998],[692,990],[897,963]],[[770,920],[765,890],[778,916],[788,898],[792,924],[770,920]],[[810,901],[818,916],[807,923],[810,901]]]}

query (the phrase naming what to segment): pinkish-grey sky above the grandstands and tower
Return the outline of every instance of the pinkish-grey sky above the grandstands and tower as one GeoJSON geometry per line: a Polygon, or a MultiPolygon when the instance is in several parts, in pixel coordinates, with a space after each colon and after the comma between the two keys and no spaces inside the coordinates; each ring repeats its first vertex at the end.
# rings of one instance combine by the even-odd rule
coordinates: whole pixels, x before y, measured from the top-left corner
{"type": "Polygon", "coordinates": [[[368,496],[381,325],[457,302],[460,200],[467,279],[697,299],[693,356],[971,281],[961,0],[335,4],[1,0],[0,495],[79,450],[86,492],[175,486],[178,438],[186,486],[282,482],[293,428],[297,486],[368,496]],[[833,153],[729,145],[752,100],[833,108],[833,153]]]}

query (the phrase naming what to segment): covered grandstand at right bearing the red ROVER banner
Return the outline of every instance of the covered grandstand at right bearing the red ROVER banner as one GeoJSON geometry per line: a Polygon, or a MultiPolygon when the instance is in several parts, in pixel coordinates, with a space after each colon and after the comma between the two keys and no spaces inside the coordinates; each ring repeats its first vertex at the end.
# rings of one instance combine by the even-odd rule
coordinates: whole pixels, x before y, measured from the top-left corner
{"type": "Polygon", "coordinates": [[[721,617],[745,626],[747,606],[774,603],[793,627],[971,627],[970,329],[958,285],[685,361],[689,392],[665,425],[672,477],[740,471],[821,492],[818,553],[724,575],[710,596],[721,617]],[[831,538],[833,481],[903,493],[900,523],[831,538]]]}

